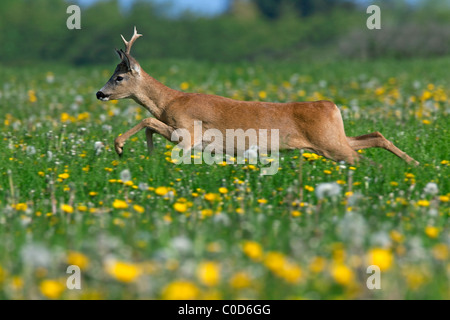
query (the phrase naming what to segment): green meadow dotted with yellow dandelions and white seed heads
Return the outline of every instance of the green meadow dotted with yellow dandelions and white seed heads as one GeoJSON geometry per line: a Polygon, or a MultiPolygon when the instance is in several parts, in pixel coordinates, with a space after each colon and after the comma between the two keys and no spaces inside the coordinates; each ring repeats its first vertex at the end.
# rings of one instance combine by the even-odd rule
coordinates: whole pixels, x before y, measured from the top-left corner
{"type": "Polygon", "coordinates": [[[1,299],[450,299],[450,58],[140,62],[187,92],[332,100],[347,135],[380,131],[421,165],[297,150],[262,176],[173,163],[161,137],[149,157],[144,132],[119,158],[114,139],[148,115],[95,98],[115,65],[2,66],[1,299]]]}

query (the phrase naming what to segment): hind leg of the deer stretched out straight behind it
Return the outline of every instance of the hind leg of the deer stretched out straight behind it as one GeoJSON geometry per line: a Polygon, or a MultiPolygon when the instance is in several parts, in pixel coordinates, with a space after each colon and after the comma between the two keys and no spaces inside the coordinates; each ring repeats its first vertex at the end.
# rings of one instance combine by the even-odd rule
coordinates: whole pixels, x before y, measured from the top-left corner
{"type": "Polygon", "coordinates": [[[419,165],[419,162],[411,158],[406,152],[397,148],[392,142],[387,140],[379,132],[372,132],[358,137],[347,137],[347,141],[353,150],[367,149],[367,148],[383,148],[392,152],[397,157],[405,160],[407,163],[419,165]]]}

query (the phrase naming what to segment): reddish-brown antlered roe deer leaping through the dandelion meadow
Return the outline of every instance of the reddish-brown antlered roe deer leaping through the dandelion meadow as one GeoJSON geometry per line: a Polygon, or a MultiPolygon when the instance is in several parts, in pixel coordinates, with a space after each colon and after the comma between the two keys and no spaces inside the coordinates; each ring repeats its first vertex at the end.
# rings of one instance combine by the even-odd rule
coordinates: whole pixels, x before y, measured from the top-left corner
{"type": "MultiPolygon", "coordinates": [[[[202,130],[220,130],[224,136],[227,129],[278,129],[280,150],[307,149],[334,161],[346,161],[349,164],[354,164],[360,158],[357,150],[366,148],[383,148],[407,163],[419,164],[379,132],[347,137],[341,113],[330,101],[238,101],[171,89],[148,75],[131,56],[131,47],[141,36],[136,27],[130,41],[126,41],[121,35],[125,51],[116,49],[121,62],[109,81],[97,92],[97,99],[101,101],[133,99],[154,116],[142,120],[115,139],[115,150],[119,155],[123,153],[125,141],[144,128],[147,147],[151,153],[154,133],[174,141],[177,139],[176,130],[185,129],[194,137],[194,123],[201,121],[202,130]]],[[[194,138],[182,142],[187,149],[195,147],[194,138]]]]}

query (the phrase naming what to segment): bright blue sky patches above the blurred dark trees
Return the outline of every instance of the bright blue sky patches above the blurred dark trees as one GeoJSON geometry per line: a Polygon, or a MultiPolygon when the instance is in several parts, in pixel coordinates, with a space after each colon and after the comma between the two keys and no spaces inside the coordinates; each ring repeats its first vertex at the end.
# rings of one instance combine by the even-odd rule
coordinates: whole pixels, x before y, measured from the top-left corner
{"type": "MultiPolygon", "coordinates": [[[[89,5],[98,0],[77,0],[81,5],[89,5]]],[[[170,13],[178,14],[190,10],[202,15],[215,15],[224,12],[228,8],[229,0],[153,0],[155,3],[170,4],[172,9],[170,13]]],[[[126,7],[132,0],[119,0],[126,7]]]]}

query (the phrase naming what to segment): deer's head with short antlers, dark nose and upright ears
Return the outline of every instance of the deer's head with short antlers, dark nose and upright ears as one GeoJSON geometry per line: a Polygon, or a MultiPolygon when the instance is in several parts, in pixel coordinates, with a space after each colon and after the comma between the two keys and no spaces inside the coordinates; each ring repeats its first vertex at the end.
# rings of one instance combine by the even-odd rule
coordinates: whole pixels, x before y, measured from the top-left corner
{"type": "Polygon", "coordinates": [[[126,41],[121,35],[125,43],[125,51],[116,49],[116,52],[122,61],[117,65],[114,74],[108,82],[97,92],[97,99],[108,101],[133,98],[135,96],[141,81],[141,66],[130,55],[130,51],[133,43],[141,36],[141,34],[137,33],[136,27],[134,27],[134,34],[130,41],[126,41]]]}

